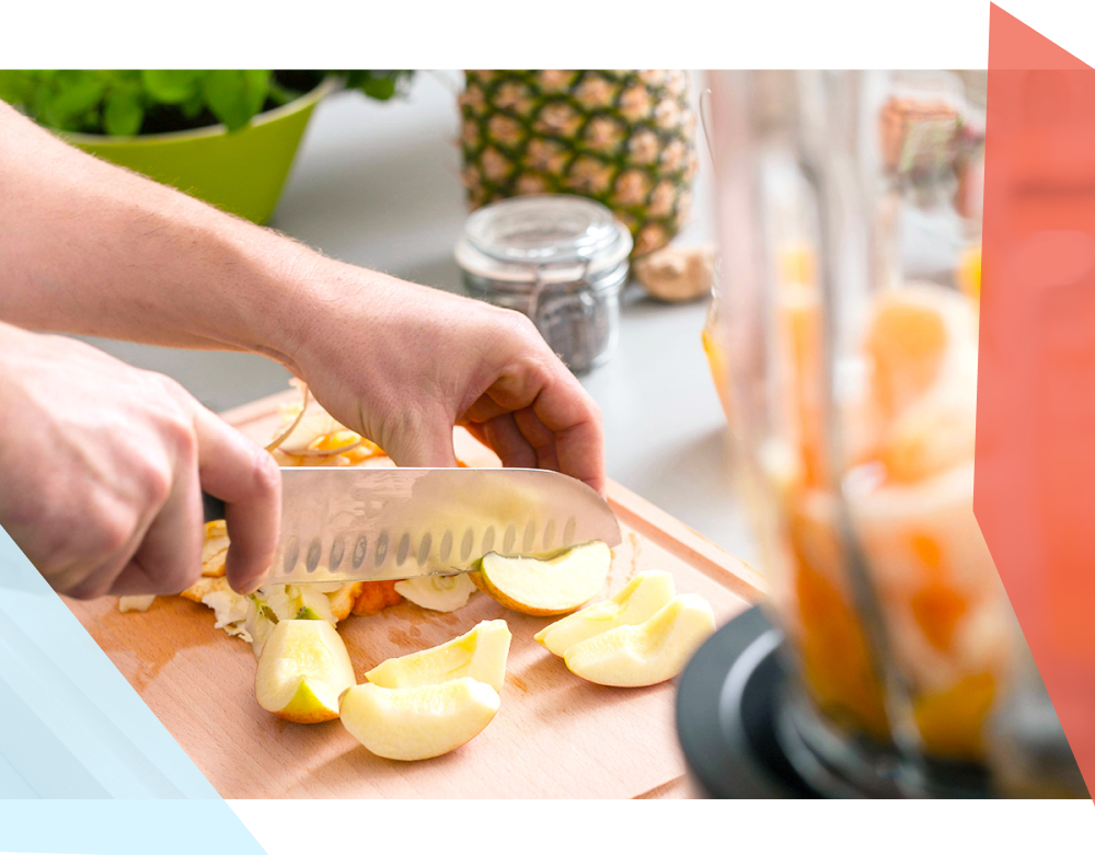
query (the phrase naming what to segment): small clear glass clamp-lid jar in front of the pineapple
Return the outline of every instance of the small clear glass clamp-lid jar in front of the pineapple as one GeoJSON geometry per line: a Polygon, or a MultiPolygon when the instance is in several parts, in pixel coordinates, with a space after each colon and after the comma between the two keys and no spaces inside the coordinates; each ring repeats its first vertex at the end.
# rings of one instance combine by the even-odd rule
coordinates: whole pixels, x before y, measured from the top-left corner
{"type": "Polygon", "coordinates": [[[603,205],[580,196],[535,195],[480,208],[456,256],[472,297],[535,323],[576,374],[611,359],[631,233],[603,205]]]}

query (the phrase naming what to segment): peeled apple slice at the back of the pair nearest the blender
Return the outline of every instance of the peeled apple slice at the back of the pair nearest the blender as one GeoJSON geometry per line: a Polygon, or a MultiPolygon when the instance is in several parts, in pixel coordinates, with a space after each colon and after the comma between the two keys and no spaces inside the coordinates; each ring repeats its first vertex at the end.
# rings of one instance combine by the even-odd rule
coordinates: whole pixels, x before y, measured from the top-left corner
{"type": "Polygon", "coordinates": [[[595,635],[643,623],[677,593],[673,577],[665,570],[641,573],[604,602],[568,614],[535,634],[535,639],[555,656],[595,635]]]}

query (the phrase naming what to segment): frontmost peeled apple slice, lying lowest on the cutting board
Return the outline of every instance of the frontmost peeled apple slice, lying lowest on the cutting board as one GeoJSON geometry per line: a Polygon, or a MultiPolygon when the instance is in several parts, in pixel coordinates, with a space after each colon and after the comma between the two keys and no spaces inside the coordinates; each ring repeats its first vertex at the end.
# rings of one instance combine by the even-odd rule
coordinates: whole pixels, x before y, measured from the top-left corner
{"type": "Polygon", "coordinates": [[[479,736],[499,704],[492,686],[470,677],[408,689],[361,683],[342,696],[339,718],[378,756],[427,760],[479,736]]]}

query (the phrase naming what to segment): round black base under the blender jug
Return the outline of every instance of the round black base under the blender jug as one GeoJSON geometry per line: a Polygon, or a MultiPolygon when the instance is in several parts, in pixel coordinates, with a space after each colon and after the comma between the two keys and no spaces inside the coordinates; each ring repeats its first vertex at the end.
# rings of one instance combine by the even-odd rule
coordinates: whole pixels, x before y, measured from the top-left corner
{"type": "Polygon", "coordinates": [[[780,660],[782,643],[783,633],[753,608],[708,638],[681,674],[677,731],[706,797],[995,798],[987,778],[967,767],[910,774],[894,749],[839,735],[797,695],[780,660]]]}

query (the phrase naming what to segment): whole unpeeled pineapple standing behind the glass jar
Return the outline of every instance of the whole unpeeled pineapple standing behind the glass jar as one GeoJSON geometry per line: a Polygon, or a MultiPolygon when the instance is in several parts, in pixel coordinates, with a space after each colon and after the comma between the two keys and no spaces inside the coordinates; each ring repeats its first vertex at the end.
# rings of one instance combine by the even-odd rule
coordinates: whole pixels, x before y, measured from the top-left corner
{"type": "Polygon", "coordinates": [[[460,95],[471,207],[573,193],[608,206],[633,257],[688,217],[698,157],[681,68],[470,68],[460,95]]]}

